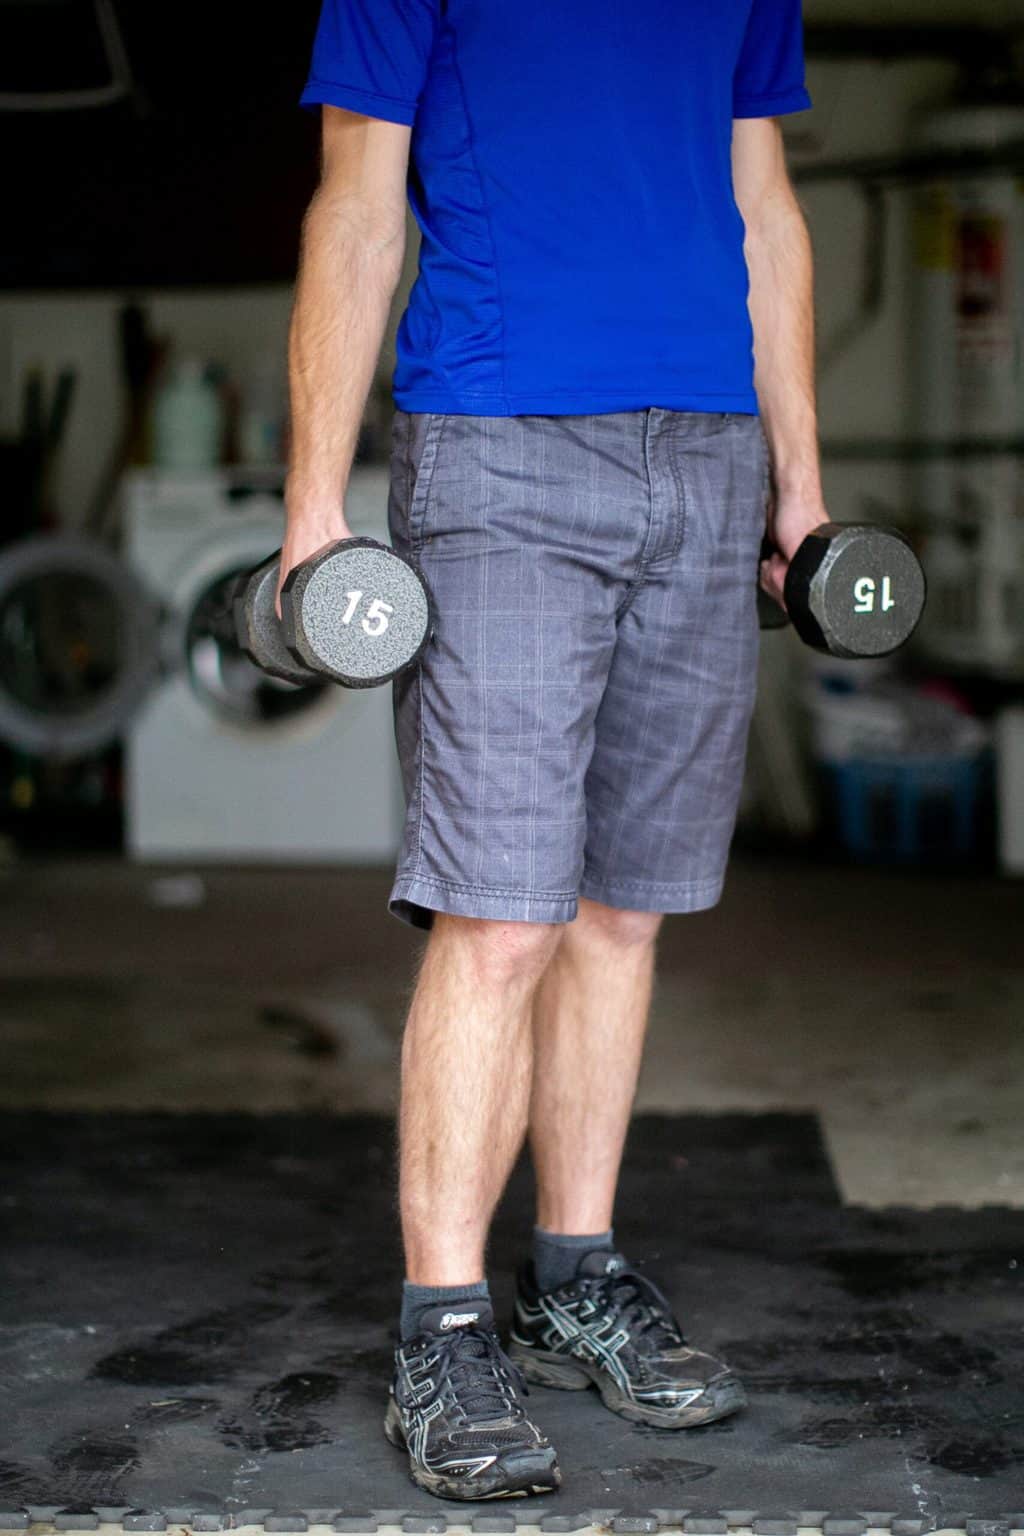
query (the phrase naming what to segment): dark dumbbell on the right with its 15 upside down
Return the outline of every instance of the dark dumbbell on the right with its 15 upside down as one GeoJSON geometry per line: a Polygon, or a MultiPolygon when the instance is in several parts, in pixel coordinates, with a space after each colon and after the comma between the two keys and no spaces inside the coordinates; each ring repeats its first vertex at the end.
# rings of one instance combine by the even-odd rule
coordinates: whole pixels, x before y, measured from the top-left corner
{"type": "MultiPolygon", "coordinates": [[[[766,539],[761,559],[774,551],[766,539]]],[[[758,587],[763,630],[792,625],[808,645],[832,656],[889,656],[913,634],[924,611],[924,571],[897,528],[823,522],[786,570],[786,608],[758,587]]]]}

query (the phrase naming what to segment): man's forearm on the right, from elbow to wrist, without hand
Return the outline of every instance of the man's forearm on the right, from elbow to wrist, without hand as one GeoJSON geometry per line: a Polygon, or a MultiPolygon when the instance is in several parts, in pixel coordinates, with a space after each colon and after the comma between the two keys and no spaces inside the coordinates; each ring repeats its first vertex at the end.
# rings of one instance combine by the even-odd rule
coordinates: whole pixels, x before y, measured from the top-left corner
{"type": "Polygon", "coordinates": [[[778,496],[821,504],[814,384],[814,258],[791,189],[765,201],[746,230],[754,387],[778,496]]]}

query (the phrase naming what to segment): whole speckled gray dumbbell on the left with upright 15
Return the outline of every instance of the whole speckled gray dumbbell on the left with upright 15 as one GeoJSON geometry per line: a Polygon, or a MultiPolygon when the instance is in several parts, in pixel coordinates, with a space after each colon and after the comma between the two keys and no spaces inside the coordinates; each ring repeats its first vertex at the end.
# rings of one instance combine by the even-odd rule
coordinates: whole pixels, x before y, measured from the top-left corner
{"type": "Polygon", "coordinates": [[[275,611],[281,556],[241,578],[233,599],[243,651],[272,677],[375,688],[413,667],[433,633],[419,568],[378,539],[335,539],[295,565],[275,611]]]}

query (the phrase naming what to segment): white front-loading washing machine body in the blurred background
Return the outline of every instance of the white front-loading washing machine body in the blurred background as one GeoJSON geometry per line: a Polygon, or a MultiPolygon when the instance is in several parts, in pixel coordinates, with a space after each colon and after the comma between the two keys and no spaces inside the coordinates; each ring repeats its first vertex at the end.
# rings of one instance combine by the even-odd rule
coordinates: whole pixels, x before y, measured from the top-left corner
{"type": "MultiPolygon", "coordinates": [[[[387,470],[355,468],[353,533],[384,542],[387,470]]],[[[402,790],[391,688],[293,688],[207,619],[281,544],[279,492],[239,472],[137,470],[124,559],[160,605],[160,668],[126,731],[127,848],[147,860],[384,863],[402,790]]]]}

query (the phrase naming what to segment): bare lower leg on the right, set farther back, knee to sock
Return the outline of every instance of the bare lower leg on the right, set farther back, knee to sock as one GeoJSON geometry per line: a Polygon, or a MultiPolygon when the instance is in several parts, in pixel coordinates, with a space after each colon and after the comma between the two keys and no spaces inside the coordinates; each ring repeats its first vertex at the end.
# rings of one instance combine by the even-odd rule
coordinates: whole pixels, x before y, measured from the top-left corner
{"type": "Polygon", "coordinates": [[[550,1232],[611,1226],[660,922],[580,897],[537,988],[530,1147],[550,1232]]]}

